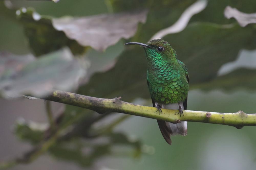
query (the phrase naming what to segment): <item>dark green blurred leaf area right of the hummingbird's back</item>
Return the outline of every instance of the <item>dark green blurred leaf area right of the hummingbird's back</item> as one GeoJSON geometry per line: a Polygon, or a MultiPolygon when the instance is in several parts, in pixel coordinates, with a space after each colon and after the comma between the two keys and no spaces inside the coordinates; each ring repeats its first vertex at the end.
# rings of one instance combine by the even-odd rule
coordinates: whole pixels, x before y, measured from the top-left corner
{"type": "Polygon", "coordinates": [[[236,60],[241,49],[255,49],[255,38],[253,27],[193,23],[184,31],[167,35],[164,39],[174,42],[172,47],[188,68],[192,89],[197,84],[215,79],[221,66],[236,60]]]}

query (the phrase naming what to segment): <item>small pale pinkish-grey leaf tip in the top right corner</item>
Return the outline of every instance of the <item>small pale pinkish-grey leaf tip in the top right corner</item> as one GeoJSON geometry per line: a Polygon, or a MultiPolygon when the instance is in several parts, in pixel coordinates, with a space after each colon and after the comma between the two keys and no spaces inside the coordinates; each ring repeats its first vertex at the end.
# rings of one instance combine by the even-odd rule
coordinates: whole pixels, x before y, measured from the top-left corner
{"type": "Polygon", "coordinates": [[[224,16],[227,19],[235,18],[241,27],[245,27],[246,25],[251,23],[256,23],[256,13],[246,14],[230,6],[227,6],[225,8],[224,16]]]}

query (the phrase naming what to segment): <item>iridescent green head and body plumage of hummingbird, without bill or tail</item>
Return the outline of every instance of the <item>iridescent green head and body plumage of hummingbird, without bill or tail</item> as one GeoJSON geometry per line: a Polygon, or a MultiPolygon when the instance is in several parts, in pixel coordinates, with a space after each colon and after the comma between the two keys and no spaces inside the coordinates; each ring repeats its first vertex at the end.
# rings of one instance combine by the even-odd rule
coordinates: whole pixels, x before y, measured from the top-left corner
{"type": "Polygon", "coordinates": [[[164,40],[159,40],[147,43],[151,48],[145,48],[150,95],[155,102],[161,104],[184,101],[189,88],[187,68],[177,59],[172,47],[164,40]],[[159,47],[163,47],[164,51],[158,51],[159,47]]]}

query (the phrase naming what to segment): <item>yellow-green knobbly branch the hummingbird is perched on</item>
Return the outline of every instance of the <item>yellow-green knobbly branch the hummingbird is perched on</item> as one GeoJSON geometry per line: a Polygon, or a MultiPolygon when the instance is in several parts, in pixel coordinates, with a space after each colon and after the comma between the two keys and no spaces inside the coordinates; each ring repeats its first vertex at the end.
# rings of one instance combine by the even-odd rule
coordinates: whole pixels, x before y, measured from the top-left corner
{"type": "Polygon", "coordinates": [[[121,101],[121,97],[102,99],[59,90],[53,91],[44,99],[90,109],[98,113],[119,112],[172,123],[179,123],[180,121],[204,122],[234,126],[238,129],[243,126],[256,126],[256,114],[246,114],[243,111],[236,113],[216,113],[184,110],[184,116],[180,117],[178,110],[162,109],[163,113],[158,114],[156,112],[157,109],[154,107],[124,102],[121,101]]]}

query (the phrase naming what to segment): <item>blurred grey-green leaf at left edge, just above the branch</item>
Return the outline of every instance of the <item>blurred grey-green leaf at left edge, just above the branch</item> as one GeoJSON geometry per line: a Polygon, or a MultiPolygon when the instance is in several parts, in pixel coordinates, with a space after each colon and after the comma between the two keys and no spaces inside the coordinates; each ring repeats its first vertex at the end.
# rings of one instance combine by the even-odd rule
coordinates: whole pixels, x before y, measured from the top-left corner
{"type": "Polygon", "coordinates": [[[68,90],[76,87],[79,78],[85,74],[69,49],[50,53],[37,60],[31,56],[2,54],[0,63],[0,68],[3,68],[0,89],[10,97],[21,94],[45,96],[52,89],[68,90]],[[30,62],[26,63],[28,58],[30,62]]]}

